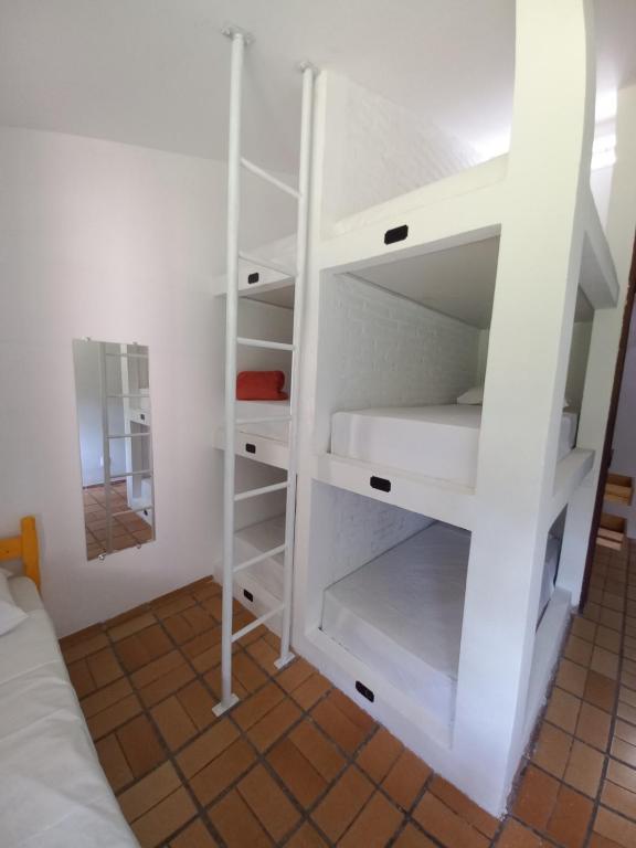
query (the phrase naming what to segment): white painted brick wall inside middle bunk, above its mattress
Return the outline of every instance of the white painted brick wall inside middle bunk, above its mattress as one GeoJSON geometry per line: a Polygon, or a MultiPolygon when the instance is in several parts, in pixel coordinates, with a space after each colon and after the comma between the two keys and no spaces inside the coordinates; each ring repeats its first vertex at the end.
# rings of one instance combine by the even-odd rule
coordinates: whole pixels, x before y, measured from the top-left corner
{"type": "Polygon", "coordinates": [[[318,407],[454,403],[474,385],[479,330],[353,277],[322,283],[318,407]]]}

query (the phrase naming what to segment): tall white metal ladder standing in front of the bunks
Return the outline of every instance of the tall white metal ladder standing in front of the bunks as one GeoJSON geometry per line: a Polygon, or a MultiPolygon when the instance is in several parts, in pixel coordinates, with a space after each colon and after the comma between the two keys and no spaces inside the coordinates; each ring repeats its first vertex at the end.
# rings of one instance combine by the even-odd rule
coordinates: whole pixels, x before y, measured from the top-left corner
{"type": "MultiPolygon", "coordinates": [[[[230,82],[230,141],[229,141],[229,173],[227,173],[227,296],[225,306],[225,456],[223,476],[223,603],[222,603],[222,644],[221,644],[221,701],[214,707],[214,713],[221,716],[233,707],[239,698],[232,692],[232,646],[251,630],[265,622],[283,614],[280,634],[280,656],[276,666],[283,668],[294,655],[289,650],[292,633],[292,590],[294,570],[294,529],[296,519],[296,471],[297,471],[297,439],[298,439],[298,377],[299,377],[299,338],[303,322],[303,300],[307,271],[307,235],[309,211],[309,178],[311,159],[311,113],[314,99],[314,77],[316,68],[310,64],[300,65],[303,72],[303,105],[300,119],[300,167],[298,189],[288,186],[273,174],[241,156],[241,104],[242,74],[245,46],[252,41],[248,33],[227,28],[223,34],[232,41],[232,70],[230,82]],[[241,168],[259,177],[271,186],[290,194],[298,203],[297,235],[296,235],[296,267],[287,268],[278,263],[261,259],[246,254],[239,248],[240,224],[240,184],[241,168]],[[268,271],[284,274],[295,279],[294,289],[294,337],[292,344],[262,339],[237,337],[236,316],[239,305],[239,259],[258,265],[268,271]],[[289,449],[287,479],[272,486],[262,486],[237,494],[235,491],[235,435],[236,427],[244,423],[236,418],[236,347],[239,344],[266,348],[269,350],[292,351],[292,373],[289,388],[289,416],[272,418],[276,422],[289,422],[289,449]],[[269,551],[264,551],[246,562],[234,562],[234,510],[237,501],[256,498],[261,495],[286,490],[285,541],[269,551]],[[234,575],[257,562],[284,554],[283,565],[283,602],[264,615],[255,618],[245,627],[233,633],[233,583],[234,575]]],[[[266,418],[251,418],[269,421],[266,418]]]]}

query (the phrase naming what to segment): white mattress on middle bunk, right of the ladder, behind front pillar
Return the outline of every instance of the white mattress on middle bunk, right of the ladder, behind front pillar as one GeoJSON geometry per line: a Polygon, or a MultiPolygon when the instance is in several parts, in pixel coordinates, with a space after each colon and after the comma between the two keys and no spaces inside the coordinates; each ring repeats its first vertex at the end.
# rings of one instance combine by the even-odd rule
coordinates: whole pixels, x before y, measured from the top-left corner
{"type": "MultiPolygon", "coordinates": [[[[563,413],[559,460],[574,447],[576,423],[575,413],[563,413]]],[[[331,420],[331,453],[474,487],[480,425],[477,405],[337,412],[331,420]]]]}

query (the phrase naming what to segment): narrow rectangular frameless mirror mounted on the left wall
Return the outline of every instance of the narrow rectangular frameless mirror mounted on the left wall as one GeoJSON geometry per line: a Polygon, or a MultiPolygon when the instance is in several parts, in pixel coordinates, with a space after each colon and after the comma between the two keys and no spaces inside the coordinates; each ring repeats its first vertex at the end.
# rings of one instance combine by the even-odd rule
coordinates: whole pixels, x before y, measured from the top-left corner
{"type": "Polygon", "coordinates": [[[155,539],[148,348],[74,340],[89,560],[155,539]]]}

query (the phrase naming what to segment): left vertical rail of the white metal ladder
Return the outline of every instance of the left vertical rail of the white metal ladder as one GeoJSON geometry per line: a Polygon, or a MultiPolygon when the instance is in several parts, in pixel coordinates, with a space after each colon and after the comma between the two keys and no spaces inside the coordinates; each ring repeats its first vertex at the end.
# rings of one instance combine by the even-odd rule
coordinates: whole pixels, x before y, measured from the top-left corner
{"type": "Polygon", "coordinates": [[[241,105],[245,34],[229,31],[232,38],[230,78],[230,132],[227,150],[227,296],[225,298],[225,455],[223,462],[223,594],[221,619],[221,716],[237,697],[232,692],[232,604],[234,563],[234,486],[236,417],[236,316],[239,305],[239,223],[241,218],[241,105]]]}

